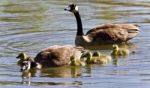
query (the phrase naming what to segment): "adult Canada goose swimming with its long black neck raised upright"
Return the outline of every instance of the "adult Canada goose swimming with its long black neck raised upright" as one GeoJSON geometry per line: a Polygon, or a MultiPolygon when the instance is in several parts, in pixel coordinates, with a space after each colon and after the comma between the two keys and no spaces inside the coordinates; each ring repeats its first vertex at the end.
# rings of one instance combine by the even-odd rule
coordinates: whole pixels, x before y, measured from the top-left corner
{"type": "Polygon", "coordinates": [[[77,21],[75,44],[77,46],[126,42],[139,33],[137,25],[110,23],[98,25],[84,35],[78,6],[70,4],[68,8],[64,10],[72,12],[75,15],[77,21]]]}

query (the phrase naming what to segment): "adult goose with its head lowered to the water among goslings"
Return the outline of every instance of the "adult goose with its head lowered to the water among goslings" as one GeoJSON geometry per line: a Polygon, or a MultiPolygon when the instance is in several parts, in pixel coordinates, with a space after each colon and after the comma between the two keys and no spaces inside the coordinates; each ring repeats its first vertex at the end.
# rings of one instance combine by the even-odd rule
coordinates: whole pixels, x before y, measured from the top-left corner
{"type": "Polygon", "coordinates": [[[84,51],[85,50],[82,47],[55,45],[43,49],[36,55],[34,60],[30,59],[30,57],[28,57],[28,59],[24,59],[27,55],[23,53],[24,57],[22,58],[23,61],[21,63],[21,69],[29,70],[30,68],[41,69],[52,66],[70,65],[70,58],[80,58],[84,51]]]}

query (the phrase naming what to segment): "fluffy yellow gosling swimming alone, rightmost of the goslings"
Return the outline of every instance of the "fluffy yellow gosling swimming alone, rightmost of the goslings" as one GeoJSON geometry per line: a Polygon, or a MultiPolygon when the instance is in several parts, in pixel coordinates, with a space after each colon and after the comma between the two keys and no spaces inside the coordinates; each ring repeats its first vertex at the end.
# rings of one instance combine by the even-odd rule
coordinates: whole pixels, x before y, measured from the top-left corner
{"type": "Polygon", "coordinates": [[[119,48],[117,44],[113,45],[113,51],[111,53],[112,56],[126,56],[129,55],[130,51],[127,48],[119,48]]]}

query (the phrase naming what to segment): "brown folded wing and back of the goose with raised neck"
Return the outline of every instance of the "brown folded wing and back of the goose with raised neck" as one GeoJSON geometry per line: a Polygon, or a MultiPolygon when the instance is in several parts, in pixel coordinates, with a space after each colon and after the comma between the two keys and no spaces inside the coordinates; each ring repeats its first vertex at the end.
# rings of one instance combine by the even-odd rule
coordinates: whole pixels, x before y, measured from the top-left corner
{"type": "Polygon", "coordinates": [[[125,42],[138,32],[139,28],[132,24],[103,24],[89,30],[86,35],[96,42],[125,42]]]}

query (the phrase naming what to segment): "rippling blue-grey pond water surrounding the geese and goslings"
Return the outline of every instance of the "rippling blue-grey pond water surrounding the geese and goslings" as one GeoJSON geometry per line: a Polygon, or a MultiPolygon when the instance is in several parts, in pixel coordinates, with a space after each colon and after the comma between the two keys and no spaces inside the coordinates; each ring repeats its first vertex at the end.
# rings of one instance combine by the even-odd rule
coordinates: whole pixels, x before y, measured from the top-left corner
{"type": "MultiPolygon", "coordinates": [[[[1,0],[0,87],[149,88],[150,0],[1,0]],[[140,34],[126,45],[135,51],[107,65],[48,68],[21,73],[19,52],[34,57],[51,45],[74,45],[76,22],[63,9],[77,3],[84,32],[102,23],[135,23],[140,34]],[[31,75],[31,79],[22,79],[31,75]]],[[[110,53],[111,50],[102,50],[110,53]]]]}

